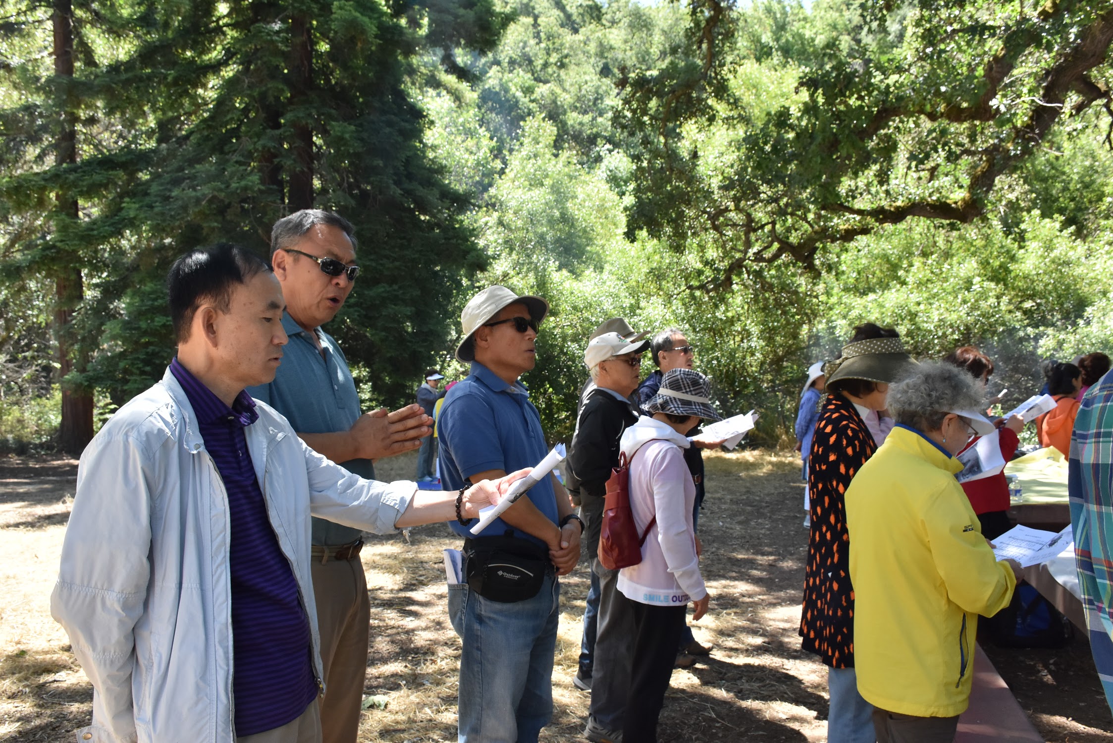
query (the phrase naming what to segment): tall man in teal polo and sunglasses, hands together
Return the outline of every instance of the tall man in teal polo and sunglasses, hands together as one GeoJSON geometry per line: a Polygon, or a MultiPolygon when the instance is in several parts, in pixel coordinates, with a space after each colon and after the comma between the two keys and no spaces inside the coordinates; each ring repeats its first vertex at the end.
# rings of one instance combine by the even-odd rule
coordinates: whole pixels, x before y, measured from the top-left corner
{"type": "MultiPolygon", "coordinates": [[[[270,263],[286,300],[285,356],[269,384],[248,388],[286,417],[311,448],[348,471],[374,479],[372,460],[411,451],[432,431],[420,405],[387,414],[359,411],[347,360],[321,329],[359,273],[355,237],[343,217],[303,209],[275,223],[270,263]]],[[[359,727],[371,608],[359,560],[363,532],[313,519],[313,590],[321,629],[324,743],[355,743],[359,727]]]]}

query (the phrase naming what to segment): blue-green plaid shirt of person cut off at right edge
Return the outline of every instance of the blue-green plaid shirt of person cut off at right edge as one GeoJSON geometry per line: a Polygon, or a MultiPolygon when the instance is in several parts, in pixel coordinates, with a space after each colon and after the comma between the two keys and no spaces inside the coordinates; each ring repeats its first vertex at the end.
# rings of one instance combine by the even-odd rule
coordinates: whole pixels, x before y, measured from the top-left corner
{"type": "Polygon", "coordinates": [[[1078,407],[1070,493],[1090,647],[1113,710],[1113,373],[1090,388],[1078,407]]]}

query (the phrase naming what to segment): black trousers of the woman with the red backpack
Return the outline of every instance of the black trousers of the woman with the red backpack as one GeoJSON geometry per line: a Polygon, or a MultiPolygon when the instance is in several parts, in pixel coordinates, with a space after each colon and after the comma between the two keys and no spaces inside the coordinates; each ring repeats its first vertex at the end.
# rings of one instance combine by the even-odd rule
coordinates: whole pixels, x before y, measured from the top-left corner
{"type": "Polygon", "coordinates": [[[650,606],[632,602],[622,594],[618,594],[617,598],[630,605],[634,624],[622,740],[656,743],[657,718],[664,704],[664,692],[669,690],[688,605],[650,606]]]}

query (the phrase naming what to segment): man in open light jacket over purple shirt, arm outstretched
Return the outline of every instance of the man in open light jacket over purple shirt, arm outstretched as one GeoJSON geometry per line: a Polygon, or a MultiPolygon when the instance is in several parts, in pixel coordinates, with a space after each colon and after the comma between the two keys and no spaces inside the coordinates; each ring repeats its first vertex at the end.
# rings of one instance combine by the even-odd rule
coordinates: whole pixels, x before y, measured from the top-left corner
{"type": "Polygon", "coordinates": [[[376,532],[475,517],[522,472],[459,495],[349,473],[244,392],[287,341],[266,264],[193,251],[168,287],[177,358],[81,456],[51,597],[93,686],[78,741],[316,742],[311,512],[376,532]]]}

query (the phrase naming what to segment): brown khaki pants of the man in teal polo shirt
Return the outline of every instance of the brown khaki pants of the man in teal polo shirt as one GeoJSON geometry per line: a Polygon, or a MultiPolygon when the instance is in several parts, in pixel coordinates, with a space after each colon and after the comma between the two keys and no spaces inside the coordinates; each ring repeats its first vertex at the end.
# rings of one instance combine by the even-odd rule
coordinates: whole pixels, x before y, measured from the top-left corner
{"type": "Polygon", "coordinates": [[[325,696],[321,700],[324,743],[355,743],[363,685],[367,677],[371,605],[358,557],[313,560],[313,593],[321,630],[325,696]]]}

